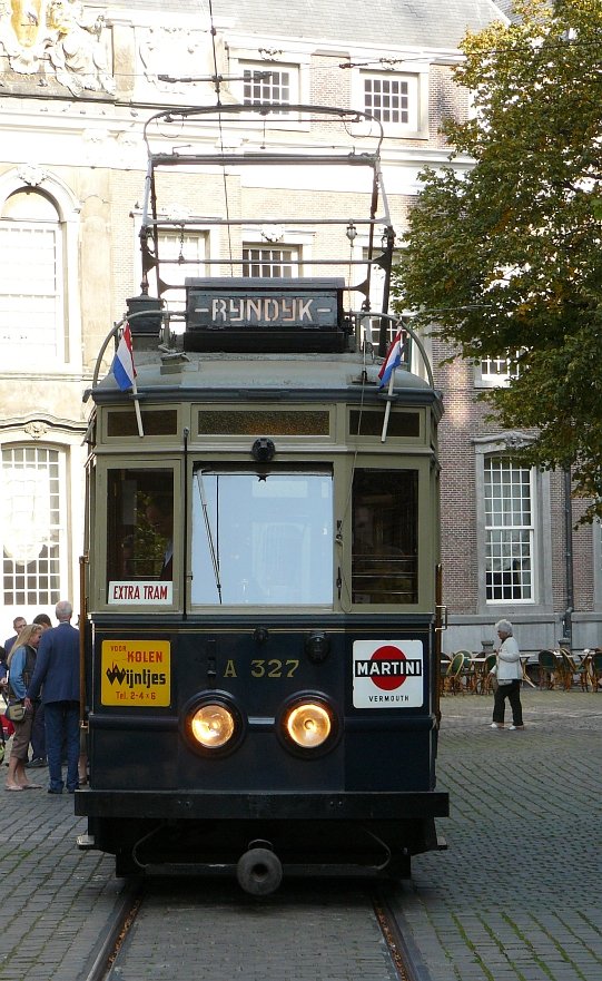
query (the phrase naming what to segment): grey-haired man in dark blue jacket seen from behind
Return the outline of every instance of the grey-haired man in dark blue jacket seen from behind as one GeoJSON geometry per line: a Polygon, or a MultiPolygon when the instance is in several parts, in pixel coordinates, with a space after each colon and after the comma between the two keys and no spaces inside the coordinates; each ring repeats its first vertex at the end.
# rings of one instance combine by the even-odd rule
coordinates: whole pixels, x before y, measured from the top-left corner
{"type": "Polygon", "coordinates": [[[62,794],[61,752],[67,744],[67,789],[78,787],[79,759],[79,632],[71,627],[73,608],[61,599],[56,606],[58,627],[45,630],[38,647],[38,659],[28,702],[37,698],[40,688],[46,718],[46,754],[50,773],[49,794],[62,794]]]}

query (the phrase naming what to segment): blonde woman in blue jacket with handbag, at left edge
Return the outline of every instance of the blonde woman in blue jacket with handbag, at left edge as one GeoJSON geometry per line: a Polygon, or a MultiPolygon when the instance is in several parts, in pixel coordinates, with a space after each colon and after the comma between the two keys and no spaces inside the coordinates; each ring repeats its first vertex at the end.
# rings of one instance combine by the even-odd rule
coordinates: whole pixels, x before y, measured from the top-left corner
{"type": "Polygon", "coordinates": [[[7,791],[33,791],[40,788],[39,784],[30,784],[26,774],[31,726],[36,709],[27,710],[23,703],[33,675],[33,668],[36,667],[38,644],[41,636],[42,628],[39,624],[29,624],[27,627],[23,627],[12,645],[8,657],[9,706],[7,714],[10,718],[10,710],[13,707],[16,714],[11,718],[14,726],[14,735],[12,737],[7,783],[4,785],[7,791]],[[16,717],[21,714],[20,707],[23,709],[21,719],[16,717]]]}

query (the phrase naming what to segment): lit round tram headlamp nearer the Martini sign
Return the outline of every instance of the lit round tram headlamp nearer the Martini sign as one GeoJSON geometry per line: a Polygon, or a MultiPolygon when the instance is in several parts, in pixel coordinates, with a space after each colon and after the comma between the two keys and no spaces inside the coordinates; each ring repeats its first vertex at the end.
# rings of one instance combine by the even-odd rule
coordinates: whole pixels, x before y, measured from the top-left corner
{"type": "Polygon", "coordinates": [[[328,700],[312,691],[287,702],[279,716],[279,734],[296,755],[328,752],[338,737],[338,719],[328,700]]]}

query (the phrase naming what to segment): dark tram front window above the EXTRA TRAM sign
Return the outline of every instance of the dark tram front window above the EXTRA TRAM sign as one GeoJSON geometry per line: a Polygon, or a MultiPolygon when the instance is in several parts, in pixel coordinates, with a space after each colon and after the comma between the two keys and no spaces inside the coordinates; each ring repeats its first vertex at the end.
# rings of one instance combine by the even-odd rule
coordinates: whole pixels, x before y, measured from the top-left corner
{"type": "Polygon", "coordinates": [[[172,471],[110,470],[107,488],[108,581],[172,579],[172,471]]]}

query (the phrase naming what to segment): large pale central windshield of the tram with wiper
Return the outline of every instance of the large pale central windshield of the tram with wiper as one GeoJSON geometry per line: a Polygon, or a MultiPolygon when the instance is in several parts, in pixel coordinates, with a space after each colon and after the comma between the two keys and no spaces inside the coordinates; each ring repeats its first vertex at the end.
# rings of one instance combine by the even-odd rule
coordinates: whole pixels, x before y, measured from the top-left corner
{"type": "Polygon", "coordinates": [[[330,606],[333,478],[197,468],[193,604],[330,606]]]}

